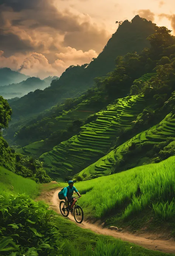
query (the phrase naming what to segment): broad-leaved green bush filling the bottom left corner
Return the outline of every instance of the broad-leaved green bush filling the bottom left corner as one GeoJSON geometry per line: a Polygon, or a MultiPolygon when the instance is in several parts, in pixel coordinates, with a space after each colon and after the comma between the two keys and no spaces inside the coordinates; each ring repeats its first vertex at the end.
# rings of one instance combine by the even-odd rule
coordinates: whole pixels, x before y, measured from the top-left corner
{"type": "Polygon", "coordinates": [[[26,195],[0,196],[0,252],[3,256],[59,255],[60,233],[44,204],[26,195]]]}

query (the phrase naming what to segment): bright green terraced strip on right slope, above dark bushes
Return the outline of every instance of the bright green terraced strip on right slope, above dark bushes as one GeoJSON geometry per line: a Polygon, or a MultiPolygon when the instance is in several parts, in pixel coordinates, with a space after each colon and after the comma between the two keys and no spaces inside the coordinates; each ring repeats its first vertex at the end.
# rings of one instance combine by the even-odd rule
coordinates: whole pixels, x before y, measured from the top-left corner
{"type": "Polygon", "coordinates": [[[79,175],[81,177],[90,174],[96,174],[98,176],[108,175],[111,172],[112,164],[123,158],[123,153],[128,150],[128,146],[132,142],[136,145],[144,142],[147,144],[159,144],[160,142],[166,141],[169,137],[175,137],[175,116],[171,113],[159,125],[137,134],[132,139],[117,147],[117,149],[112,150],[109,154],[100,158],[96,163],[85,168],[79,175]]]}

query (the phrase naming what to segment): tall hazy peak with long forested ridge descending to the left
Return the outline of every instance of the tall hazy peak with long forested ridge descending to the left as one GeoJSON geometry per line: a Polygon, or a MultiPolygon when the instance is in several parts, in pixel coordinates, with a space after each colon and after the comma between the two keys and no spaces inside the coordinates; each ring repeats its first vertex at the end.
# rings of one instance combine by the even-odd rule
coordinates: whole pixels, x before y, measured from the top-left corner
{"type": "Polygon", "coordinates": [[[117,56],[128,52],[140,53],[144,47],[149,47],[147,37],[154,31],[155,24],[139,16],[135,16],[131,22],[124,21],[103,51],[89,65],[70,66],[58,81],[52,81],[50,88],[44,91],[36,90],[13,102],[11,105],[13,117],[39,113],[61,102],[63,98],[75,97],[78,93],[92,87],[95,77],[105,76],[112,71],[117,56]]]}

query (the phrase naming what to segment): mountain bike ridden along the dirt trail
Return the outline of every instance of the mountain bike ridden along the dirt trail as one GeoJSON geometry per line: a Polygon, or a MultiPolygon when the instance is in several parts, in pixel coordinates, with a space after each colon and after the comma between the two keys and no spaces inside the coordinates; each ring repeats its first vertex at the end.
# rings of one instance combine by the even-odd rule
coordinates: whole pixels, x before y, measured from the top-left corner
{"type": "Polygon", "coordinates": [[[59,204],[60,212],[63,216],[67,217],[69,215],[69,212],[73,212],[74,219],[77,223],[82,223],[83,221],[83,209],[81,206],[78,205],[78,199],[80,197],[74,197],[72,198],[72,201],[70,202],[69,207],[67,208],[65,205],[65,201],[61,201],[59,204]],[[75,200],[74,200],[75,198],[75,200]],[[75,203],[72,205],[72,202],[75,201],[75,203]]]}

